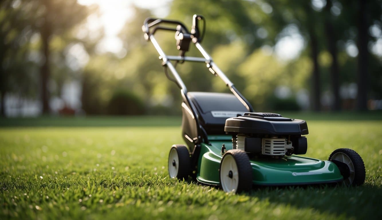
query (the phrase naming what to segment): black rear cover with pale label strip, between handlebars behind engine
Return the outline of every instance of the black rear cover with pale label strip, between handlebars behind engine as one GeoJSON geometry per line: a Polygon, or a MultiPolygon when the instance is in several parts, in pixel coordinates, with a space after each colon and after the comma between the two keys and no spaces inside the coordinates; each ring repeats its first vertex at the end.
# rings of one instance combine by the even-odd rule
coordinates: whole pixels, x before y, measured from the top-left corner
{"type": "Polygon", "coordinates": [[[243,115],[247,108],[233,94],[216,92],[188,92],[199,114],[199,122],[207,134],[225,134],[227,118],[243,115]]]}

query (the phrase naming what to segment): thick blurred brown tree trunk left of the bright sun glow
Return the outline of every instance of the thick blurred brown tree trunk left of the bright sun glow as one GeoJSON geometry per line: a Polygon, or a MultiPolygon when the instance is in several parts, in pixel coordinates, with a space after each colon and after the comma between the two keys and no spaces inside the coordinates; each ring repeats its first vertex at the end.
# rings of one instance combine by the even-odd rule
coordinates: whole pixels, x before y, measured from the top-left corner
{"type": "Polygon", "coordinates": [[[42,102],[42,114],[46,115],[50,113],[49,107],[49,89],[48,82],[50,77],[50,68],[49,68],[49,39],[51,35],[50,23],[45,16],[44,24],[41,27],[41,41],[42,41],[42,54],[44,54],[45,61],[40,69],[41,77],[41,102],[42,102]]]}

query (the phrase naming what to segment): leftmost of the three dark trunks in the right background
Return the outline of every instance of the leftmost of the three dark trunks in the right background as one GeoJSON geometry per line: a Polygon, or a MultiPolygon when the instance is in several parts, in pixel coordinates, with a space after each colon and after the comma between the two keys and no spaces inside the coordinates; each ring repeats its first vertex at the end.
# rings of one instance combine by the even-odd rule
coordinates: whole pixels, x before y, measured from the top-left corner
{"type": "Polygon", "coordinates": [[[321,110],[320,104],[320,70],[318,64],[318,44],[316,34],[313,29],[309,29],[310,45],[311,45],[311,56],[313,61],[313,72],[312,72],[312,108],[313,111],[319,112],[321,110]]]}

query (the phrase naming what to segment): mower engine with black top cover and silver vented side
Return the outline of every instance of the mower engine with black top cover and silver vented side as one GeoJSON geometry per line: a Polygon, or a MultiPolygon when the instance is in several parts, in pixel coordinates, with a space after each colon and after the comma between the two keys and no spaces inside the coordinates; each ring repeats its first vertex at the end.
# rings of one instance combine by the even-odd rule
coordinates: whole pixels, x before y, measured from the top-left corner
{"type": "Polygon", "coordinates": [[[228,118],[224,131],[232,135],[233,149],[247,153],[281,158],[306,154],[308,134],[306,121],[285,118],[275,113],[244,113],[228,118]]]}

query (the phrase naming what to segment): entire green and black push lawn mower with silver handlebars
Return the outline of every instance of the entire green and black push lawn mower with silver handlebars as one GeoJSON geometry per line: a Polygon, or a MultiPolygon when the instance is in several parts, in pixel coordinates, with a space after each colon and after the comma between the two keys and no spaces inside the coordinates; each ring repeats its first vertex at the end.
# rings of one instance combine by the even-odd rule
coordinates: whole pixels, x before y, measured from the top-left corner
{"type": "Polygon", "coordinates": [[[165,75],[180,88],[183,98],[181,134],[186,145],[174,144],[170,149],[171,178],[188,180],[191,176],[200,183],[234,193],[249,191],[253,186],[364,183],[364,163],[354,150],[334,150],[328,160],[298,156],[306,154],[308,147],[304,136],[308,134],[306,121],[277,113],[254,112],[202,47],[206,31],[203,16],[193,16],[191,31],[179,21],[157,18],[147,18],[142,30],[144,38],[159,53],[165,75]],[[157,31],[175,33],[178,56],[163,52],[154,37],[157,31]],[[202,57],[185,56],[190,44],[196,46],[202,57]],[[208,70],[219,76],[232,94],[188,92],[175,69],[176,64],[185,61],[206,63],[208,70]]]}

